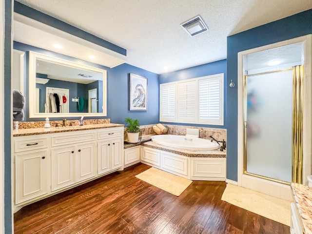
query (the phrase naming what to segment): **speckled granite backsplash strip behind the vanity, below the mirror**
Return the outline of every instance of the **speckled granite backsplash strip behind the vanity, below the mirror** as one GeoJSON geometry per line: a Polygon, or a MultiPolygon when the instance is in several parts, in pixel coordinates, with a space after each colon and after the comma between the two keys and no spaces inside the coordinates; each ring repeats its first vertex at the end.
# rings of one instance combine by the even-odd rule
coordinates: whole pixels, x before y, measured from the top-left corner
{"type": "MultiPolygon", "coordinates": [[[[58,123],[59,127],[62,126],[63,120],[50,120],[51,127],[55,127],[55,124],[58,123]]],[[[77,120],[66,120],[66,126],[72,123],[73,126],[79,126],[78,119],[77,120]]],[[[104,119],[84,119],[84,125],[92,125],[92,124],[107,124],[111,123],[110,118],[104,119]]],[[[30,129],[30,128],[44,128],[45,121],[31,121],[31,122],[19,122],[19,129],[30,129]]]]}

